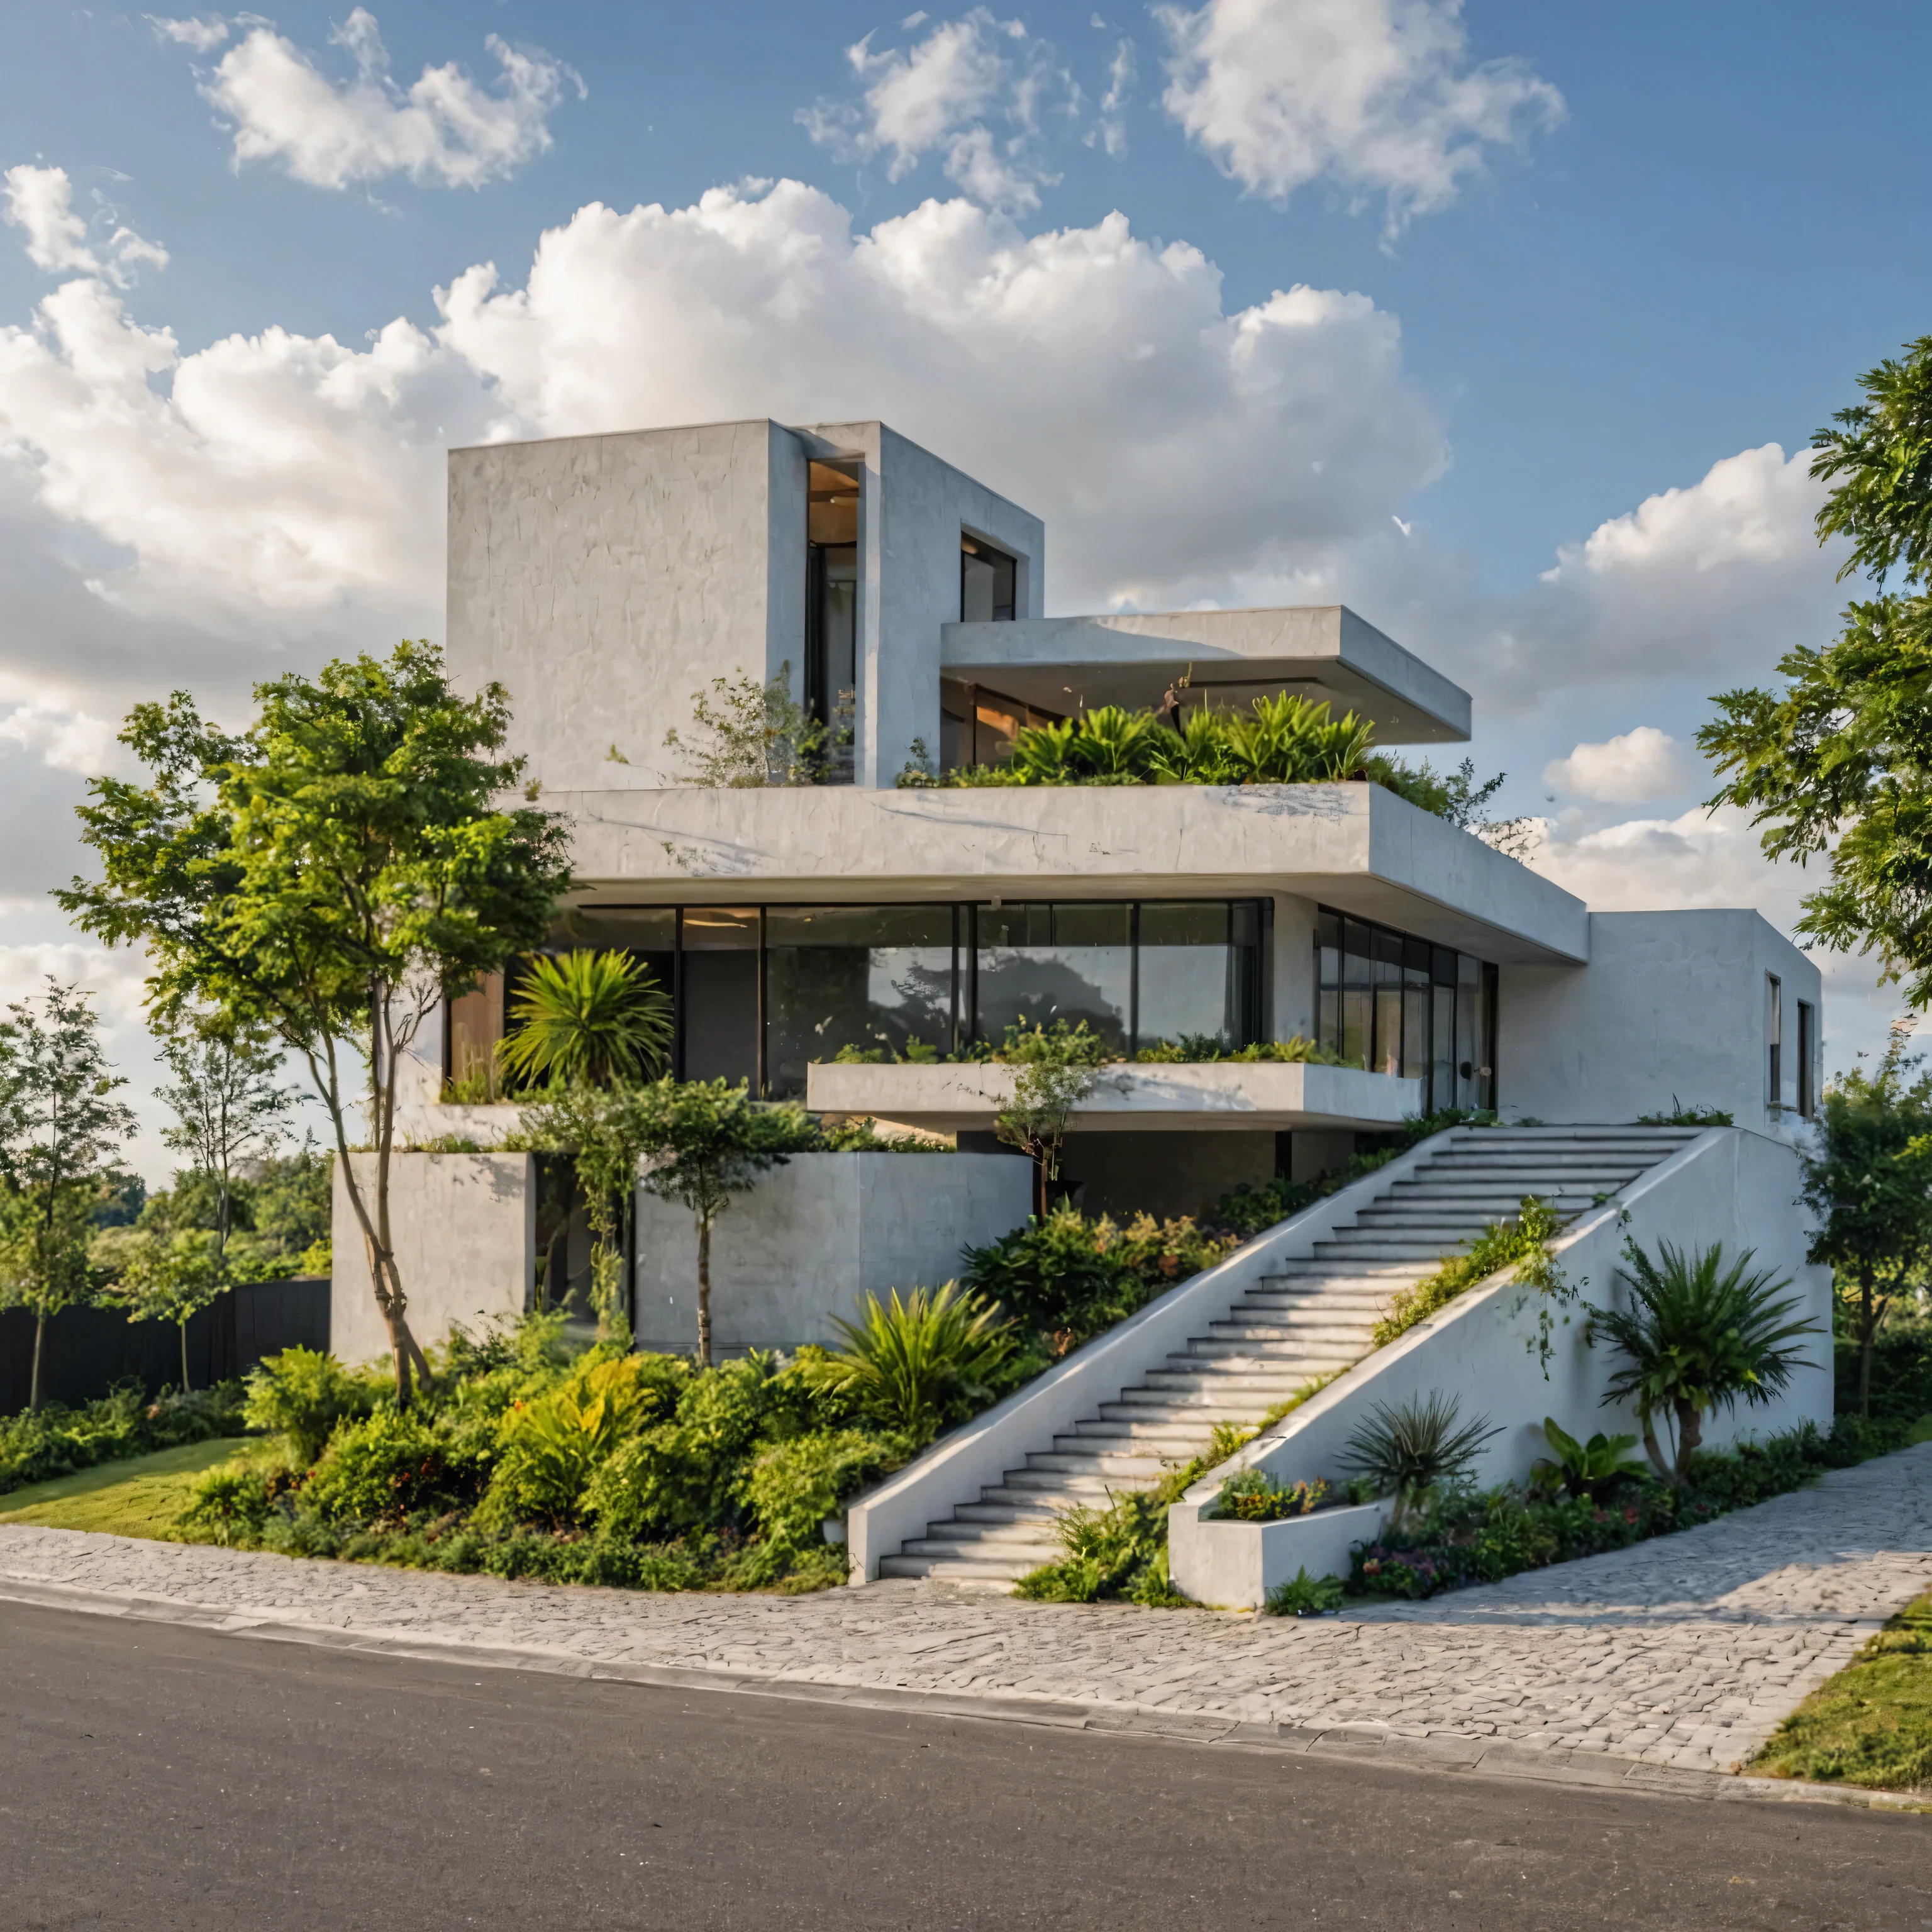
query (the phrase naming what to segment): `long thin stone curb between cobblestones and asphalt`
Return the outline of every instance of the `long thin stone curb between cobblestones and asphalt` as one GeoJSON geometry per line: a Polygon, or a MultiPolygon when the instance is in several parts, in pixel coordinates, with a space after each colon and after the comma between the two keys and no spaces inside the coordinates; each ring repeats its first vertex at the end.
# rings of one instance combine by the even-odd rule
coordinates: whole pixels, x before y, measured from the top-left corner
{"type": "Polygon", "coordinates": [[[139,1592],[89,1590],[79,1584],[44,1582],[0,1575],[0,1602],[37,1609],[68,1609],[93,1617],[131,1617],[243,1636],[255,1642],[305,1644],[359,1656],[400,1658],[421,1663],[458,1663],[477,1669],[537,1671],[582,1677],[593,1683],[628,1683],[657,1690],[707,1690],[728,1696],[767,1696],[796,1704],[844,1704],[854,1710],[906,1712],[923,1718],[968,1718],[987,1723],[1030,1723],[1057,1731],[1095,1731],[1165,1743],[1215,1745],[1273,1754],[1321,1754],[1364,1764],[1474,1777],[1511,1777],[1548,1785],[1588,1785],[1598,1791],[1633,1791],[1646,1797],[1702,1803],[1851,1804],[1862,1810],[1932,1812],[1932,1801],[1891,1791],[1859,1791],[1808,1785],[1785,1777],[1743,1777],[1727,1772],[1679,1770],[1646,1764],[1602,1750],[1536,1748],[1509,1739],[1434,1731],[1399,1733],[1381,1723],[1291,1725],[1254,1723],[1213,1714],[1151,1710],[1140,1704],[1084,1704],[1020,1694],[964,1694],[956,1690],[896,1690],[885,1685],[813,1683],[755,1671],[690,1669],[665,1663],[580,1658],[566,1650],[529,1644],[483,1644],[413,1636],[406,1631],[344,1631],[332,1623],[303,1623],[282,1615],[238,1611],[218,1604],[139,1592]]]}

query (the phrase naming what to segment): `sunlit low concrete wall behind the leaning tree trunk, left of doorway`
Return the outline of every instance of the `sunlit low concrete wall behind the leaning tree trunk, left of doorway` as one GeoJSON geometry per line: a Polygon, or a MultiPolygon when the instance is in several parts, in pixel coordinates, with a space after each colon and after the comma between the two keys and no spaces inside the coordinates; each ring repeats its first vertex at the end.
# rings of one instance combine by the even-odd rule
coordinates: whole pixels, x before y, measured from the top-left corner
{"type": "MultiPolygon", "coordinates": [[[[375,1155],[352,1153],[363,1202],[375,1211],[375,1155]]],[[[516,1318],[529,1294],[537,1248],[535,1163],[527,1153],[396,1153],[388,1169],[388,1229],[410,1331],[427,1349],[452,1321],[475,1329],[516,1318]]],[[[342,1362],[388,1354],[361,1225],[336,1161],[328,1347],[342,1362]]]]}

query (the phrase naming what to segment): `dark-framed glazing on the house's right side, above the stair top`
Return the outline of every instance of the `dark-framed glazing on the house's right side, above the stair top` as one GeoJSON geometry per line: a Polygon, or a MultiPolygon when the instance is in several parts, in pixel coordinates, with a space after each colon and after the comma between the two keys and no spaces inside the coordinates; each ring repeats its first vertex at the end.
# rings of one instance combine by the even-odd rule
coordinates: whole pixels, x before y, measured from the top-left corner
{"type": "Polygon", "coordinates": [[[1495,1105],[1495,968],[1323,908],[1316,1036],[1356,1066],[1422,1080],[1428,1107],[1495,1105]]]}

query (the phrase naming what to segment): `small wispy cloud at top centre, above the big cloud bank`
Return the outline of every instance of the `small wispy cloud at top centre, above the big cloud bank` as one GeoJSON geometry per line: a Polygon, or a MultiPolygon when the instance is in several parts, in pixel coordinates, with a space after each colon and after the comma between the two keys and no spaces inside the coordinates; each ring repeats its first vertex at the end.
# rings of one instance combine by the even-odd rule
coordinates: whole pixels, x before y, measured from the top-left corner
{"type": "MultiPolygon", "coordinates": [[[[900,27],[910,33],[925,21],[925,14],[912,14],[900,27]]],[[[846,48],[854,75],[866,83],[860,100],[819,100],[798,110],[811,139],[846,160],[887,156],[893,182],[937,151],[947,178],[976,201],[1037,209],[1039,189],[1057,180],[1041,158],[1043,120],[1049,112],[1078,116],[1082,102],[1053,48],[1032,39],[1022,21],[999,19],[983,6],[939,21],[910,48],[873,50],[873,39],[866,35],[846,48]],[[995,135],[989,120],[1007,131],[995,135]]],[[[1126,75],[1132,75],[1130,50],[1126,75]]],[[[1101,128],[1119,126],[1124,85],[1121,75],[1111,77],[1113,106],[1103,106],[1101,128]]],[[[1115,153],[1113,135],[1107,151],[1115,153]]]]}

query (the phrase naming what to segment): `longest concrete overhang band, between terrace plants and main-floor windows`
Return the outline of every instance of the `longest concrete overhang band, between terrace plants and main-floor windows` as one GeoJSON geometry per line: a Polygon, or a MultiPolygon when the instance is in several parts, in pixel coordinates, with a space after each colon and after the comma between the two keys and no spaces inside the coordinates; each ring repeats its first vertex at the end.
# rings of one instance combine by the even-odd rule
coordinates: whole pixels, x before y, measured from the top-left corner
{"type": "Polygon", "coordinates": [[[543,794],[587,904],[1293,893],[1499,964],[1577,966],[1559,885],[1379,784],[543,794]]]}

